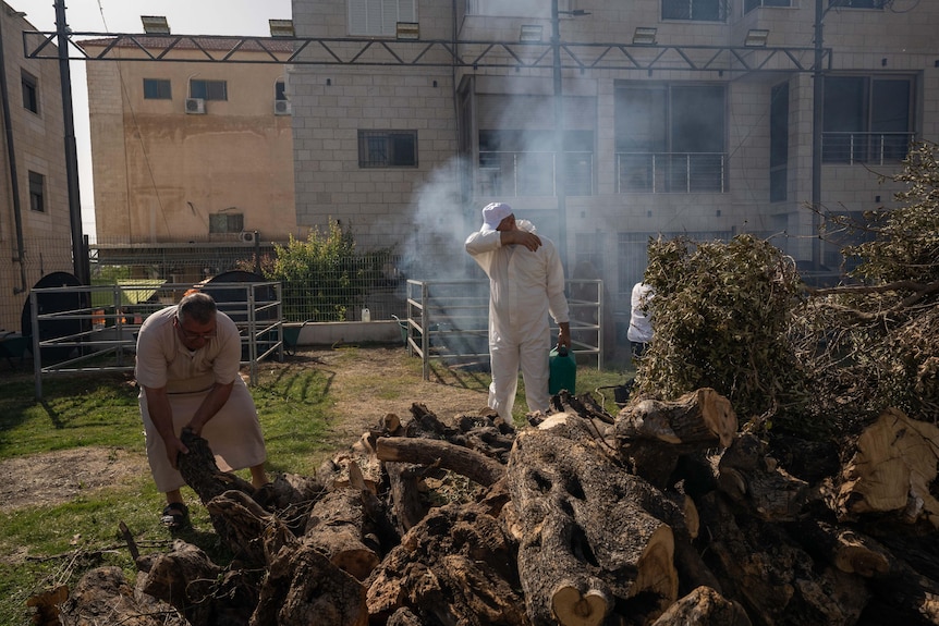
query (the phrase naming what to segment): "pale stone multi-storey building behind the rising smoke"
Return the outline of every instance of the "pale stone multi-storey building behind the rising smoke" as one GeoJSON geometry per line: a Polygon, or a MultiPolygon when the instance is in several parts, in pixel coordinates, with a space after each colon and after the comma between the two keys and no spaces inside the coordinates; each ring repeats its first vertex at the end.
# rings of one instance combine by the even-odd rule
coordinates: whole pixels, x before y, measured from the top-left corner
{"type": "Polygon", "coordinates": [[[293,20],[333,52],[289,70],[297,222],[340,219],[428,280],[472,271],[492,200],[618,312],[659,235],[754,233],[837,272],[807,206],[889,208],[878,175],[939,138],[934,2],[294,0],[293,20]]]}

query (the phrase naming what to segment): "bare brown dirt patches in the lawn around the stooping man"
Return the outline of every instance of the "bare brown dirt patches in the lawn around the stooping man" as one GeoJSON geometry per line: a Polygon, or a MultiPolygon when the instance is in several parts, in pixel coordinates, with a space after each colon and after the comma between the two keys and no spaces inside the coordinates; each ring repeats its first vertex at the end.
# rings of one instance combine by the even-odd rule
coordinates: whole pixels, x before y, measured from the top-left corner
{"type": "MultiPolygon", "coordinates": [[[[405,364],[402,347],[359,349],[355,359],[342,351],[309,349],[297,352],[284,364],[265,364],[264,367],[296,367],[297,365],[325,368],[333,376],[337,388],[343,384],[365,384],[366,392],[337,406],[339,420],[332,425],[338,447],[351,445],[363,432],[376,426],[387,413],[398,414],[402,420],[410,417],[411,405],[425,404],[439,417],[449,419],[460,413],[471,413],[486,406],[485,389],[488,373],[473,368],[437,368],[431,381],[420,376],[407,379],[398,400],[383,400],[367,393],[367,381],[388,371],[400,371],[405,364]]],[[[96,489],[113,487],[147,471],[147,462],[141,451],[108,447],[83,447],[35,454],[0,462],[0,502],[9,510],[29,505],[49,505],[65,502],[96,489]]]]}

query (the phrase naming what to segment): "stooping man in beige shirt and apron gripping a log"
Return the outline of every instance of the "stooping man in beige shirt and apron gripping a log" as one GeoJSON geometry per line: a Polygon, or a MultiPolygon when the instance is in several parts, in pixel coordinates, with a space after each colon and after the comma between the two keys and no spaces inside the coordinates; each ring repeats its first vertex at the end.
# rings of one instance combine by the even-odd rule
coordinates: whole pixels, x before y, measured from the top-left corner
{"type": "Polygon", "coordinates": [[[267,483],[267,458],[257,409],[240,375],[237,327],[207,294],[184,296],[148,317],[137,336],[136,378],[147,459],[157,489],[166,494],[162,521],[188,524],[178,467],[188,450],[183,429],[203,437],[223,471],[251,468],[252,483],[267,483]]]}

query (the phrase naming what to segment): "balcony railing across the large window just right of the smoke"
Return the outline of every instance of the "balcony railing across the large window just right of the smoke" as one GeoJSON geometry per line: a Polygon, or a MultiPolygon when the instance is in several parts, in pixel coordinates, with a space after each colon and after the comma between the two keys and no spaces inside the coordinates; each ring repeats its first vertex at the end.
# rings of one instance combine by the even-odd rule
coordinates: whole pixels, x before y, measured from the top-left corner
{"type": "Polygon", "coordinates": [[[617,193],[722,194],[723,152],[617,152],[617,193]]]}

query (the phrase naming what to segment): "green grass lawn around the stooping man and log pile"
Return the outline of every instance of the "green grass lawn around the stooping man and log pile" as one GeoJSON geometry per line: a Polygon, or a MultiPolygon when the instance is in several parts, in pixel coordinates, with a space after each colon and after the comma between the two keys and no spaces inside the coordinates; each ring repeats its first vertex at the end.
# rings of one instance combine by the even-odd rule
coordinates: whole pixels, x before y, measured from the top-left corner
{"type": "MultiPolygon", "coordinates": [[[[259,368],[252,394],[261,416],[271,475],[312,476],[324,459],[350,445],[352,441],[337,433],[337,424],[347,417],[339,415],[337,407],[361,395],[364,385],[375,398],[410,398],[415,384],[428,384],[422,380],[420,360],[406,357],[389,364],[380,376],[339,383],[336,370],[343,364],[354,367],[367,353],[366,348],[346,348],[332,368],[317,367],[315,361],[259,368]]],[[[129,376],[52,377],[44,380],[44,400],[37,402],[32,372],[0,373],[0,462],[90,449],[137,463],[143,459],[137,390],[129,376]]],[[[577,377],[577,391],[583,392],[622,384],[632,372],[622,367],[598,371],[582,366],[577,377]]],[[[615,412],[612,390],[603,394],[608,410],[615,412]]],[[[521,384],[515,406],[519,421],[525,410],[521,384]]],[[[28,482],[31,472],[41,471],[28,463],[22,465],[26,469],[21,476],[4,479],[28,482]]],[[[249,476],[246,470],[240,474],[249,476]]],[[[195,499],[191,490],[183,494],[195,499]]],[[[159,524],[162,505],[162,494],[143,465],[143,471],[102,488],[80,489],[64,502],[0,511],[0,625],[29,624],[29,597],[59,585],[74,586],[90,568],[118,565],[133,580],[135,567],[119,525],[123,521],[130,528],[142,552],[168,551],[172,538],[159,524]]],[[[179,537],[224,563],[229,555],[211,531],[205,508],[191,506],[191,511],[193,528],[179,537]]]]}

